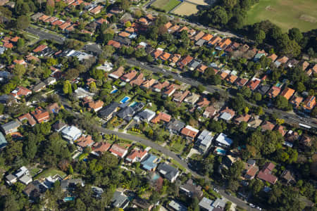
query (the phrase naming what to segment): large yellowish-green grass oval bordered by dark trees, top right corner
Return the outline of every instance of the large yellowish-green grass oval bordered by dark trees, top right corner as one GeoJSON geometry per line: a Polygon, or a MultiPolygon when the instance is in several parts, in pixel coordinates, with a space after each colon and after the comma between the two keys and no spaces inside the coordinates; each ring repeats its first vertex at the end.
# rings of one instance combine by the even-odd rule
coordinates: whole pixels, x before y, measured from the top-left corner
{"type": "Polygon", "coordinates": [[[317,28],[316,0],[261,0],[247,13],[247,24],[270,20],[282,30],[306,32],[317,28]]]}

